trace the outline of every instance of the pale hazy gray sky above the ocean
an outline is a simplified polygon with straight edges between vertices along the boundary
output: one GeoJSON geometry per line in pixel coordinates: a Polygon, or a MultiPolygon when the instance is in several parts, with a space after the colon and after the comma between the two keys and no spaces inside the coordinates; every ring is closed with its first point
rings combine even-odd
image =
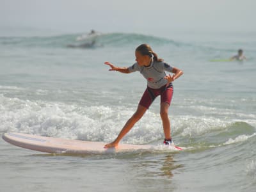
{"type": "Polygon", "coordinates": [[[255,0],[0,0],[0,26],[66,32],[255,32],[255,12],[255,0]]]}

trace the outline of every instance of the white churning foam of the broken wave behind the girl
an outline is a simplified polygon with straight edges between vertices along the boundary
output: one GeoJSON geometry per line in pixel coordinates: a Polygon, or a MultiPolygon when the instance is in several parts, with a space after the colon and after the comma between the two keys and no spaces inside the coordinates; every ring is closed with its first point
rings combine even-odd
{"type": "MultiPolygon", "coordinates": [[[[26,132],[90,141],[112,141],[134,109],[124,106],[81,106],[63,102],[31,101],[0,97],[0,132],[26,132]]],[[[172,134],[193,138],[207,132],[226,129],[232,122],[214,117],[172,116],[172,134]]],[[[252,135],[254,136],[254,134],[252,135]]],[[[247,140],[241,135],[224,145],[247,140]]],[[[147,111],[122,140],[125,143],[150,143],[163,139],[163,127],[158,113],[147,111]]]]}

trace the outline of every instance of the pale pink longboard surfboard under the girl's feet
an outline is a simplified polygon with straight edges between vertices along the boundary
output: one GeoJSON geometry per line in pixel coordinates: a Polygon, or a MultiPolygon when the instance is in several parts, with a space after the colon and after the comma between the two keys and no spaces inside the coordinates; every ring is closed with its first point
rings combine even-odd
{"type": "MultiPolygon", "coordinates": [[[[106,143],[103,142],[68,140],[64,138],[37,136],[18,132],[4,133],[2,138],[6,142],[18,147],[57,154],[102,154],[109,152],[126,152],[132,150],[156,150],[157,148],[154,145],[132,144],[119,144],[116,148],[104,148],[106,143]]],[[[170,150],[182,150],[182,148],[173,145],[170,146],[170,150]]]]}

